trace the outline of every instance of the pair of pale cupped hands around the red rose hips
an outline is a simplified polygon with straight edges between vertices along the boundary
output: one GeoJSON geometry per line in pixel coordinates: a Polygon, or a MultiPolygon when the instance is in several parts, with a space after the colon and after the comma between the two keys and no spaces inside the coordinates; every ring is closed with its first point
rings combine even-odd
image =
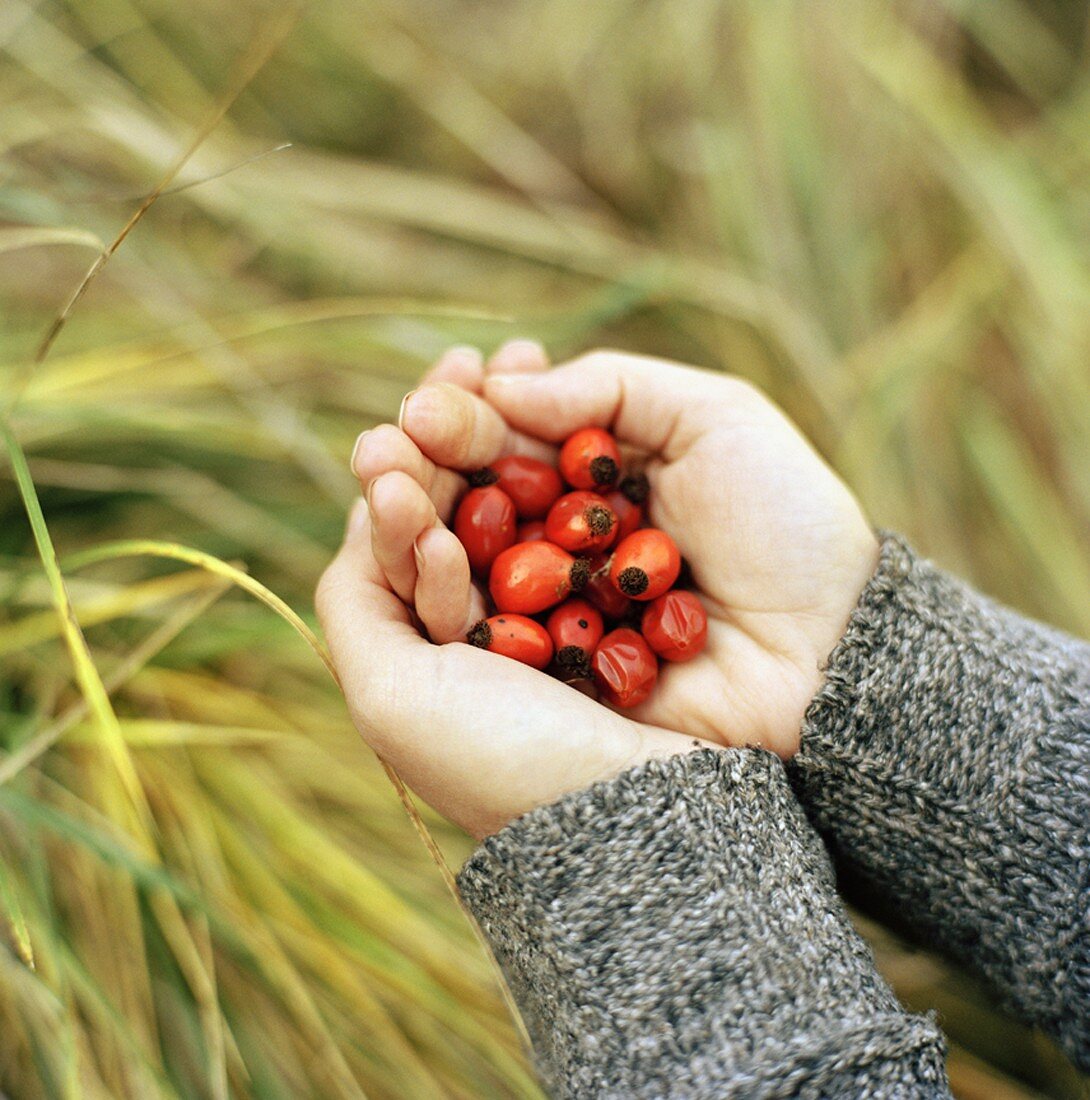
{"type": "Polygon", "coordinates": [[[352,469],[365,496],[317,593],[352,718],[477,838],[652,757],[758,745],[790,758],[878,559],[851,493],[767,397],[624,352],[551,367],[530,341],[487,362],[451,349],[396,427],[360,438],[352,469]],[[646,455],[650,521],[708,612],[705,652],[664,663],[630,711],[466,645],[485,602],[445,526],[460,471],[510,452],[550,460],[588,425],[646,455]]]}

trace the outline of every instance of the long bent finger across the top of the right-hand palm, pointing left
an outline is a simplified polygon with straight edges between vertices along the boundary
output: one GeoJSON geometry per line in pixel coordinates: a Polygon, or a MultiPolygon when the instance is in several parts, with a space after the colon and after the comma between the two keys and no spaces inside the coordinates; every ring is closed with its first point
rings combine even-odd
{"type": "Polygon", "coordinates": [[[593,352],[543,374],[491,374],[484,397],[513,429],[559,441],[595,425],[669,460],[714,422],[734,387],[744,384],[667,360],[593,352]]]}

